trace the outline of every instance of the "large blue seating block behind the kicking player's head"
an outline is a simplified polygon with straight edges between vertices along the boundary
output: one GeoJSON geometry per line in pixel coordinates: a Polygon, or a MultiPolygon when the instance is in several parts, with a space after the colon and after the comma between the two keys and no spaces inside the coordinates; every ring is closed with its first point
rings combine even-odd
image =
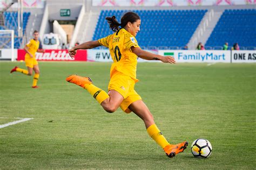
{"type": "MultiPolygon", "coordinates": [[[[136,10],[142,19],[136,39],[139,46],[166,49],[185,46],[207,10],[136,10]]],[[[105,18],[116,16],[120,22],[125,10],[103,10],[100,12],[93,40],[113,33],[105,18]]]]}

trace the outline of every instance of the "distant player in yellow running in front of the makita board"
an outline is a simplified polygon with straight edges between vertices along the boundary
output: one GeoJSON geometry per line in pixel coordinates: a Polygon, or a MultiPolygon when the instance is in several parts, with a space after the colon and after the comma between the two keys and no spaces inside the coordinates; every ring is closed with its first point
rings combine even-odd
{"type": "Polygon", "coordinates": [[[24,50],[26,52],[25,55],[25,63],[26,63],[26,67],[28,67],[28,70],[26,69],[22,69],[22,68],[18,68],[17,66],[14,67],[11,70],[12,72],[21,72],[25,75],[32,75],[32,71],[34,70],[35,75],[33,77],[33,84],[32,84],[32,88],[38,88],[37,86],[37,81],[39,79],[39,66],[38,66],[38,62],[36,60],[36,52],[38,53],[43,53],[44,49],[38,49],[39,48],[39,32],[38,31],[34,31],[33,32],[33,39],[31,39],[28,44],[26,44],[26,46],[24,47],[24,50]]]}

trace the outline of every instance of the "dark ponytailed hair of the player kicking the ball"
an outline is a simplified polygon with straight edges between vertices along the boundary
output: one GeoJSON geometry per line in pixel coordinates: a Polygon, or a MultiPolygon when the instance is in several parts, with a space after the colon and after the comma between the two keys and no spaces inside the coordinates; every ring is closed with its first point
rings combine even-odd
{"type": "Polygon", "coordinates": [[[106,17],[106,20],[107,20],[107,23],[109,23],[110,29],[113,30],[114,32],[120,29],[119,26],[123,28],[128,22],[134,23],[138,19],[140,19],[140,17],[138,16],[137,13],[134,13],[134,12],[126,12],[121,18],[121,23],[118,23],[116,16],[106,17]]]}

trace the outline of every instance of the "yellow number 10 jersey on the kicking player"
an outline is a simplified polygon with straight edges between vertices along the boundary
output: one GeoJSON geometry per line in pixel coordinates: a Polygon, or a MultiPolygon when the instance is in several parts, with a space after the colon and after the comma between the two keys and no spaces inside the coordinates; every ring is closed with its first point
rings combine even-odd
{"type": "Polygon", "coordinates": [[[118,71],[129,75],[135,82],[138,56],[132,53],[131,47],[139,47],[138,42],[131,33],[125,29],[120,29],[113,34],[98,40],[99,44],[108,47],[113,60],[110,77],[118,71]]]}

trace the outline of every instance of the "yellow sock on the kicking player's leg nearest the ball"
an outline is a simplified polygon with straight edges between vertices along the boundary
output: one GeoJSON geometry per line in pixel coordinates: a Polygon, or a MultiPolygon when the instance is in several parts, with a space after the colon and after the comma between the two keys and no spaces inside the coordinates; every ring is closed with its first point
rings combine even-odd
{"type": "Polygon", "coordinates": [[[170,145],[168,141],[165,139],[164,135],[160,132],[160,130],[157,128],[156,124],[152,124],[147,128],[147,133],[149,133],[149,136],[156,141],[158,145],[160,145],[162,148],[165,148],[165,146],[170,145]]]}

